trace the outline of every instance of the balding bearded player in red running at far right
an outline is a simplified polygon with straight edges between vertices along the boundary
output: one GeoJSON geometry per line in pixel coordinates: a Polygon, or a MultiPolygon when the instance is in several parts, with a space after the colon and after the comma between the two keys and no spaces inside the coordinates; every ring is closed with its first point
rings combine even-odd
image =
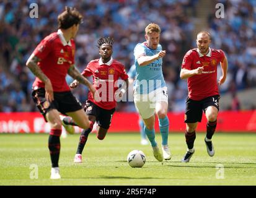
{"type": "Polygon", "coordinates": [[[188,162],[195,153],[195,130],[198,122],[201,122],[203,111],[208,121],[205,137],[206,150],[211,157],[214,155],[211,138],[217,126],[219,111],[218,84],[222,85],[226,80],[227,58],[221,49],[211,49],[210,43],[210,33],[199,32],[196,40],[197,48],[188,51],[182,62],[180,78],[188,81],[185,111],[185,138],[188,150],[182,162],[188,162]],[[217,84],[217,66],[219,63],[223,74],[217,84]]]}

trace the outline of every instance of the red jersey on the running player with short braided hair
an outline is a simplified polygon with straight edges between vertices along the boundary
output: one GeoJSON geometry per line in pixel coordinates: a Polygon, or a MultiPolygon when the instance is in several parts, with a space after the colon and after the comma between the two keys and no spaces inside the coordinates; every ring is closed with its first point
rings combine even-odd
{"type": "Polygon", "coordinates": [[[128,79],[125,66],[113,58],[106,63],[103,63],[101,59],[95,59],[87,64],[82,75],[86,77],[92,75],[94,87],[99,91],[101,98],[100,101],[95,101],[92,93],[89,92],[88,100],[105,110],[115,108],[117,101],[115,101],[114,94],[118,90],[115,83],[119,78],[122,80],[128,79]]]}

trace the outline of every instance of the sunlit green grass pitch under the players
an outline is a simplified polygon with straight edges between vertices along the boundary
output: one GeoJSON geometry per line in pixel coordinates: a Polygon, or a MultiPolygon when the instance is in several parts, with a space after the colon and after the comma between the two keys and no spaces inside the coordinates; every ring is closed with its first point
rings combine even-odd
{"type": "MultiPolygon", "coordinates": [[[[160,134],[156,139],[161,144],[160,134]]],[[[172,159],[162,164],[149,145],[139,144],[137,133],[107,134],[104,140],[90,134],[84,162],[74,164],[79,135],[69,135],[61,138],[62,178],[52,181],[47,134],[0,134],[0,185],[256,185],[256,134],[215,134],[214,157],[208,156],[203,139],[204,134],[196,134],[195,154],[181,163],[185,137],[170,133],[172,159]],[[146,154],[143,168],[126,162],[134,149],[146,154]]]]}

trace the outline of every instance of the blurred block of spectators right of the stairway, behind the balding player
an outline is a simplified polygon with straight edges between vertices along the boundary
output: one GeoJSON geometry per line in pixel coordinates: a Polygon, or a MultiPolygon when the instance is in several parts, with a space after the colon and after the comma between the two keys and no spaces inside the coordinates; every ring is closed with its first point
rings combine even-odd
{"type": "MultiPolygon", "coordinates": [[[[216,3],[219,1],[215,1],[216,3]]],[[[222,92],[255,87],[256,66],[256,2],[221,1],[225,7],[224,19],[215,14],[209,17],[213,46],[224,49],[229,60],[229,79],[222,92]],[[227,87],[226,87],[227,86],[227,87]]]]}

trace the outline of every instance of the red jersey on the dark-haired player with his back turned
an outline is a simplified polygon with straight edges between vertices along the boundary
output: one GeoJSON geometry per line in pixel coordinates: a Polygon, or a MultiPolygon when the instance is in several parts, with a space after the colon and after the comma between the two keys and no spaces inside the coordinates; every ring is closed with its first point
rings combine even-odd
{"type": "MultiPolygon", "coordinates": [[[[54,92],[70,90],[66,75],[71,64],[74,64],[75,48],[74,40],[67,43],[62,32],[58,30],[45,37],[33,51],[33,54],[41,59],[38,66],[51,80],[54,92]]],[[[33,87],[36,86],[45,87],[45,84],[36,77],[33,87]]]]}

